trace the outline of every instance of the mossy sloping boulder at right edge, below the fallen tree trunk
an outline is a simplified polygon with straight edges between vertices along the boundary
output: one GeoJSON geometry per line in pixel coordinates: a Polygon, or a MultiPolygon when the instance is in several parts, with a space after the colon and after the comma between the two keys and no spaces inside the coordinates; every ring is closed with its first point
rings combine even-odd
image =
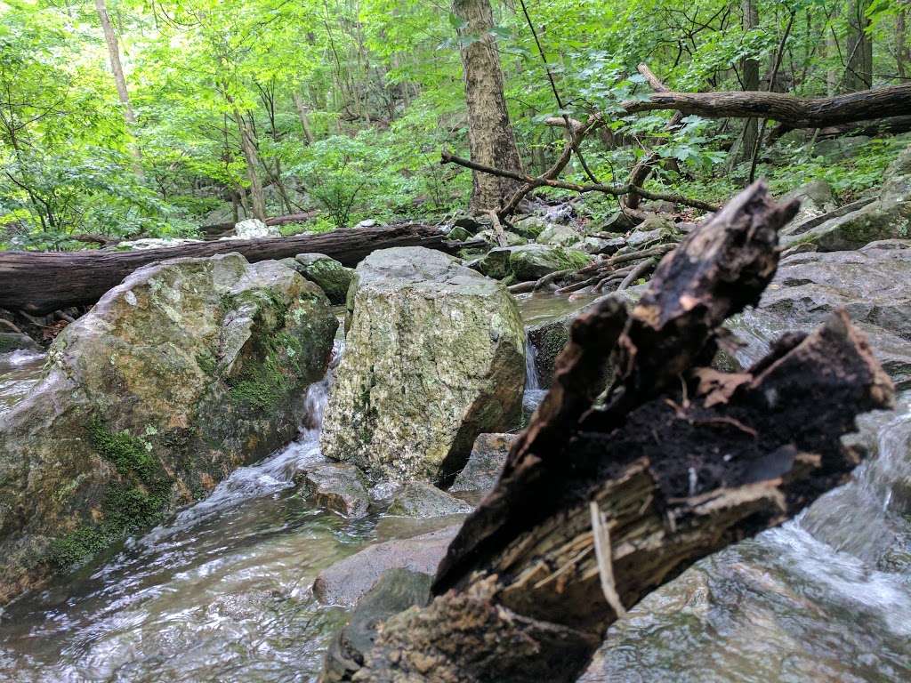
{"type": "Polygon", "coordinates": [[[784,235],[782,244],[812,243],[821,251],[855,250],[875,240],[911,238],[911,147],[885,170],[875,201],[834,215],[799,234],[784,235]]]}

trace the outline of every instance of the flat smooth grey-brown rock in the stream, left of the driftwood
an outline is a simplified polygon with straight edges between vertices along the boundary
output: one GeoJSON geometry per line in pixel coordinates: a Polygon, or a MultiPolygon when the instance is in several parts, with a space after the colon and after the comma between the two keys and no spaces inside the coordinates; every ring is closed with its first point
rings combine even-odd
{"type": "Polygon", "coordinates": [[[313,596],[323,605],[352,607],[389,569],[402,568],[432,576],[460,526],[370,545],[323,569],[313,582],[313,596]]]}

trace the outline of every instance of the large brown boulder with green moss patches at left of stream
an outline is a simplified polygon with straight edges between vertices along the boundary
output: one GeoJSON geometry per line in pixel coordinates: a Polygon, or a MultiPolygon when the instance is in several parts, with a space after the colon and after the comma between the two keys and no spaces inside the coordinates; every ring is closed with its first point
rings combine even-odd
{"type": "Polygon", "coordinates": [[[0,603],[290,441],[337,324],[315,285],[239,254],[108,291],[0,416],[0,603]]]}

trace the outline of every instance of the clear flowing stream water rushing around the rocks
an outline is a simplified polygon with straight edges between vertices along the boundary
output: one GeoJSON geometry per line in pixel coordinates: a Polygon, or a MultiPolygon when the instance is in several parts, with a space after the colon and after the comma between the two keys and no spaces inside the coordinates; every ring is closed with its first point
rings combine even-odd
{"type": "MultiPolygon", "coordinates": [[[[520,306],[530,324],[582,303],[526,297],[520,306]]],[[[740,360],[762,346],[748,345],[740,360]]],[[[0,413],[42,362],[0,357],[0,413]]],[[[543,390],[530,369],[534,403],[543,390]]],[[[331,382],[332,372],[308,390],[294,443],[235,471],[168,524],[0,610],[0,681],[315,680],[346,618],[313,599],[315,576],[365,545],[419,533],[388,517],[378,526],[381,514],[322,512],[295,491],[295,470],[322,458],[331,382]]],[[[902,516],[911,392],[897,403],[861,421],[856,440],[875,457],[853,482],[647,596],[611,627],[583,680],[911,680],[911,520],[902,516]]]]}

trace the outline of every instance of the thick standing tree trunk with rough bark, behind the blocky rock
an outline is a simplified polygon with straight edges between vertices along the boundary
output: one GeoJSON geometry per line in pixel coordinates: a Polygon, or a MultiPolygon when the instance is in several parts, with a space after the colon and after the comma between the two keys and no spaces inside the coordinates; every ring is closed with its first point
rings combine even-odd
{"type": "MultiPolygon", "coordinates": [[[[522,161],[503,95],[503,70],[496,39],[490,33],[494,27],[490,0],[454,0],[453,14],[462,22],[457,32],[459,38],[471,41],[460,49],[471,159],[486,166],[521,171],[522,161]]],[[[475,172],[469,209],[476,214],[495,210],[506,204],[517,187],[513,179],[475,172]]]]}

